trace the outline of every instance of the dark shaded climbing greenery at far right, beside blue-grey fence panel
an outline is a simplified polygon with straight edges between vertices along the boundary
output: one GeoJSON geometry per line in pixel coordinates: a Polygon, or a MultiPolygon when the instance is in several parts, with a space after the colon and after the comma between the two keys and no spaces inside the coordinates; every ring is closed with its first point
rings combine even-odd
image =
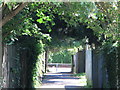
{"type": "Polygon", "coordinates": [[[108,85],[110,88],[120,87],[120,46],[117,43],[108,44],[104,48],[106,67],[108,73],[108,85]]]}

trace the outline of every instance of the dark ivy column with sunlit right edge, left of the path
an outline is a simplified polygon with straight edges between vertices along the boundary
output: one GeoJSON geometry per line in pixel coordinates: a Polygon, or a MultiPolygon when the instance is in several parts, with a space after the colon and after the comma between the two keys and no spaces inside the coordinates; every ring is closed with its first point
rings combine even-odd
{"type": "Polygon", "coordinates": [[[34,87],[34,80],[43,74],[41,65],[44,56],[40,57],[40,54],[44,52],[44,45],[41,40],[31,36],[21,36],[16,43],[20,46],[21,88],[34,87]]]}

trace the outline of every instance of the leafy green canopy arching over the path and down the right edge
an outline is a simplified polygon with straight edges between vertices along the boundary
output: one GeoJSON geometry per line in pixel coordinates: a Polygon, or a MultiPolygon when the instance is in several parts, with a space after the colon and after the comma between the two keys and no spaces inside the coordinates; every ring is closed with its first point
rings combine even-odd
{"type": "MultiPolygon", "coordinates": [[[[6,7],[9,10],[17,4],[8,3],[6,7]]],[[[3,13],[6,14],[5,11],[3,13]]],[[[28,3],[27,7],[3,26],[3,40],[12,44],[19,42],[20,36],[32,36],[43,43],[31,43],[25,38],[29,44],[26,44],[25,41],[22,43],[23,46],[27,45],[28,48],[32,48],[36,45],[40,45],[40,47],[45,45],[44,49],[49,48],[50,50],[56,47],[57,49],[62,46],[66,47],[68,44],[76,46],[74,45],[76,40],[81,41],[78,45],[84,46],[85,40],[88,38],[89,44],[94,44],[95,48],[105,51],[110,87],[116,87],[120,82],[118,68],[120,62],[119,14],[119,2],[28,3]],[[111,58],[111,55],[114,58],[111,58]],[[114,67],[115,65],[117,68],[114,67]],[[110,70],[116,70],[116,72],[112,73],[110,70]],[[117,84],[111,81],[113,76],[115,77],[113,80],[117,84]],[[116,77],[118,81],[116,81],[116,77]]],[[[41,51],[40,49],[39,53],[41,51]]],[[[36,53],[38,54],[38,52],[36,53]]],[[[36,56],[35,59],[37,59],[36,56]]]]}

